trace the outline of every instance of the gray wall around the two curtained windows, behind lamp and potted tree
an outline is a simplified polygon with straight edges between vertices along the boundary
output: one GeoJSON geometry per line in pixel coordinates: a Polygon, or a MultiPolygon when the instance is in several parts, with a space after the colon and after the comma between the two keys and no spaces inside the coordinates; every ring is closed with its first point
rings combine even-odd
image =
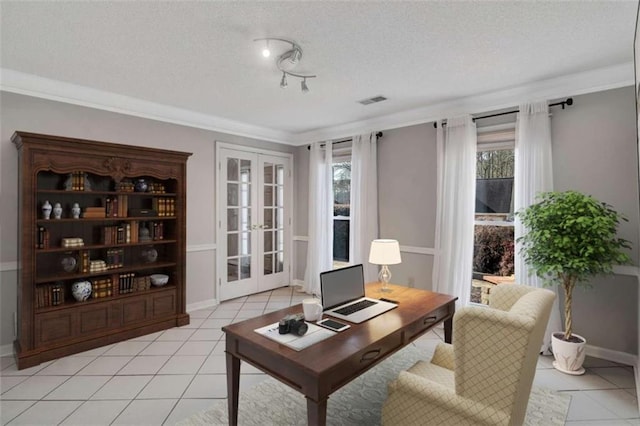
{"type": "MultiPolygon", "coordinates": [[[[557,190],[576,189],[613,205],[629,219],[620,236],[631,241],[639,264],[638,153],[633,87],[575,96],[574,105],[552,108],[554,180],[557,190]]],[[[444,117],[443,117],[444,118],[444,117]]],[[[513,122],[515,116],[482,120],[479,126],[513,122]]],[[[432,123],[385,130],[378,144],[380,236],[405,250],[392,267],[393,281],[431,289],[436,208],[436,136],[432,123]],[[416,250],[415,248],[422,249],[416,250]]],[[[296,152],[304,165],[306,148],[296,152]]],[[[302,194],[306,170],[296,170],[302,194]]],[[[307,203],[297,203],[296,235],[306,236],[307,203]],[[303,220],[304,219],[304,222],[303,220]]],[[[298,242],[306,248],[306,243],[298,242]]],[[[304,275],[304,259],[296,277],[304,275]]],[[[633,271],[633,270],[632,270],[633,271]]],[[[631,272],[633,273],[633,272],[631,272]]],[[[638,353],[638,277],[598,277],[588,291],[574,293],[574,330],[593,346],[638,353]]]]}

